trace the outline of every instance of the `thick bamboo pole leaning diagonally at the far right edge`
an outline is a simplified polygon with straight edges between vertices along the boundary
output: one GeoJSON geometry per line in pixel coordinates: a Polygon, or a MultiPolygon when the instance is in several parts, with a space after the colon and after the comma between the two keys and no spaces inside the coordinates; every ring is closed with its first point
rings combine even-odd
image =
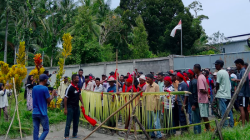
{"type": "Polygon", "coordinates": [[[227,106],[227,109],[226,109],[226,111],[225,111],[225,113],[224,113],[224,115],[223,115],[223,117],[222,117],[222,119],[220,121],[219,128],[216,128],[213,135],[212,135],[212,138],[211,138],[212,140],[215,138],[215,134],[217,133],[218,129],[221,129],[223,127],[223,124],[225,123],[226,118],[227,118],[229,112],[231,111],[231,109],[232,109],[232,107],[234,105],[234,102],[237,99],[238,94],[240,93],[240,90],[241,90],[243,84],[245,83],[245,81],[247,79],[247,76],[248,76],[249,72],[250,72],[250,67],[248,66],[245,73],[244,73],[244,75],[243,75],[243,77],[242,77],[242,79],[240,80],[240,83],[239,83],[239,85],[238,85],[232,99],[230,100],[230,102],[229,102],[229,104],[227,106]]]}

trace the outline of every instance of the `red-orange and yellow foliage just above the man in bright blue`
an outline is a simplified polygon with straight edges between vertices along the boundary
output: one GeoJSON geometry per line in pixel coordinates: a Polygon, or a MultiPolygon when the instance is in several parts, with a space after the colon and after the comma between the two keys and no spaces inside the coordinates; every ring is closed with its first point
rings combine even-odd
{"type": "Polygon", "coordinates": [[[39,80],[39,75],[43,74],[45,69],[42,66],[42,56],[41,54],[36,54],[35,57],[33,58],[34,63],[35,63],[35,68],[30,71],[29,75],[33,75],[34,79],[38,83],[39,80]]]}

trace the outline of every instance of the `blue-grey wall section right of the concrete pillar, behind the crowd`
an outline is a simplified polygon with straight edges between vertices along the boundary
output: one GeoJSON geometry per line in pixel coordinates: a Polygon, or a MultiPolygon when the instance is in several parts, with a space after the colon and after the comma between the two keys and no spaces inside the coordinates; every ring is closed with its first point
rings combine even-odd
{"type": "Polygon", "coordinates": [[[200,64],[202,68],[210,68],[215,70],[214,62],[218,59],[224,61],[224,68],[234,67],[234,61],[242,58],[245,62],[250,62],[250,52],[225,53],[216,55],[200,55],[200,56],[175,56],[174,69],[187,70],[193,68],[194,64],[200,64]]]}

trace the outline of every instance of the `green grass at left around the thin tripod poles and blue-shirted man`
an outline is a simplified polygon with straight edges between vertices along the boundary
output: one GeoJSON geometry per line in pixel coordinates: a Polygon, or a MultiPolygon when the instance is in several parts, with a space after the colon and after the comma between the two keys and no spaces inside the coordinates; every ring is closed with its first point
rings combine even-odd
{"type": "MultiPolygon", "coordinates": [[[[12,97],[14,97],[14,96],[12,95],[12,97]]],[[[24,129],[22,129],[23,136],[24,135],[32,135],[32,133],[33,133],[32,112],[27,111],[26,100],[24,100],[24,92],[22,92],[18,96],[18,101],[19,101],[18,110],[19,110],[19,115],[20,115],[21,126],[22,126],[22,128],[24,128],[24,129]]],[[[11,104],[11,113],[9,116],[10,120],[5,121],[4,116],[3,116],[3,112],[2,112],[2,116],[0,119],[0,126],[1,126],[0,127],[0,136],[6,135],[6,133],[7,133],[11,119],[14,115],[15,99],[12,99],[12,101],[9,102],[9,104],[11,104]]],[[[48,110],[48,117],[49,117],[49,124],[50,125],[66,121],[66,116],[63,114],[63,112],[61,112],[60,109],[53,109],[53,110],[49,109],[48,110]]],[[[9,131],[8,136],[10,138],[20,137],[19,122],[17,119],[17,114],[15,115],[15,119],[13,121],[13,124],[11,126],[11,129],[9,131]]]]}

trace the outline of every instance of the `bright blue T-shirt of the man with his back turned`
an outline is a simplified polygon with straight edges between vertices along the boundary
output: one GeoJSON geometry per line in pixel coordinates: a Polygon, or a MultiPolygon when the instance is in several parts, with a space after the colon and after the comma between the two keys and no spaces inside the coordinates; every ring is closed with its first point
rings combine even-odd
{"type": "Polygon", "coordinates": [[[49,90],[46,86],[37,85],[32,90],[33,113],[47,115],[47,99],[50,98],[49,90]]]}

